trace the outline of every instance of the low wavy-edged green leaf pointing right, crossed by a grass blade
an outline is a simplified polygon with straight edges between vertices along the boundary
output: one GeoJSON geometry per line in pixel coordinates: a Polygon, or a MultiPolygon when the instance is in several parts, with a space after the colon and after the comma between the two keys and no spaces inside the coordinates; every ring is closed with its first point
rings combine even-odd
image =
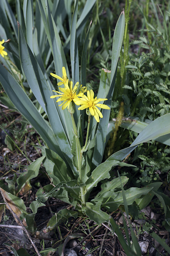
{"type": "MultiPolygon", "coordinates": [[[[126,190],[125,197],[126,197],[127,205],[132,204],[136,198],[140,198],[141,196],[147,194],[149,191],[152,190],[152,188],[153,187],[149,187],[149,188],[132,187],[126,190]]],[[[111,198],[109,200],[107,200],[108,193],[106,192],[103,194],[103,207],[106,207],[107,209],[109,209],[109,211],[114,212],[115,210],[117,210],[120,204],[124,204],[123,195],[122,195],[122,191],[114,192],[112,190],[110,191],[110,194],[111,194],[111,198]],[[104,203],[104,201],[106,203],[104,203]]]]}

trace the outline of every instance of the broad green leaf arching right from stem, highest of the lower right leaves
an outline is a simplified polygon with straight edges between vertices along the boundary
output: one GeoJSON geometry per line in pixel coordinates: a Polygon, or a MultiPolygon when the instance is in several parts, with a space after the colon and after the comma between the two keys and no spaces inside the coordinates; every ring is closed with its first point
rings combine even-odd
{"type": "Polygon", "coordinates": [[[101,180],[104,180],[105,178],[110,178],[109,171],[112,169],[114,166],[133,166],[126,164],[124,162],[119,162],[119,161],[108,161],[104,162],[100,165],[98,165],[94,171],[92,171],[92,174],[86,181],[86,190],[91,190],[92,187],[96,187],[98,182],[101,180]],[[107,164],[109,163],[109,164],[107,164]]]}

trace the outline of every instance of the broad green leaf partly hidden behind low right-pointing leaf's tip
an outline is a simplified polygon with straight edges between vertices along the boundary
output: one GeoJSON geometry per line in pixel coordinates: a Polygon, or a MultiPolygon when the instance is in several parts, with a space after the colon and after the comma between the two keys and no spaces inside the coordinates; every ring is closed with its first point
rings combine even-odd
{"type": "MultiPolygon", "coordinates": [[[[153,182],[151,184],[148,184],[145,187],[153,187],[154,191],[157,191],[158,188],[162,185],[162,182],[153,182]]],[[[148,194],[141,196],[140,198],[136,198],[135,202],[137,203],[137,206],[139,207],[140,210],[145,208],[152,200],[154,196],[154,192],[151,190],[148,192],[148,194]]]]}

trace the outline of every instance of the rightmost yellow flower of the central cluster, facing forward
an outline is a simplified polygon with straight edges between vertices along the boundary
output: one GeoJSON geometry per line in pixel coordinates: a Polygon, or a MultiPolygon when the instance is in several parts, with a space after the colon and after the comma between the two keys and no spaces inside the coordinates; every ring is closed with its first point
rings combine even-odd
{"type": "Polygon", "coordinates": [[[103,117],[102,113],[97,107],[110,109],[107,105],[98,103],[99,101],[105,101],[106,98],[94,98],[94,91],[87,91],[87,96],[83,95],[78,100],[75,100],[76,105],[81,105],[78,110],[84,110],[85,108],[89,108],[90,114],[94,116],[97,122],[99,122],[99,117],[103,117]]]}

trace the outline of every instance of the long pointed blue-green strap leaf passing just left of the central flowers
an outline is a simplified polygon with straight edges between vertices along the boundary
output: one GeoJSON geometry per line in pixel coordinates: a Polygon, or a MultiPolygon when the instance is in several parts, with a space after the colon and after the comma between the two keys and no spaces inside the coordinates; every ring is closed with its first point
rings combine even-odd
{"type": "Polygon", "coordinates": [[[51,127],[57,139],[58,145],[60,146],[61,151],[65,155],[65,158],[68,161],[69,165],[72,167],[73,171],[75,171],[75,168],[72,163],[71,148],[69,145],[67,135],[62,126],[55,101],[50,98],[50,96],[52,95],[52,92],[50,91],[49,85],[46,82],[46,79],[40,69],[40,66],[36,62],[36,59],[33,53],[31,52],[31,50],[29,49],[26,43],[21,26],[19,26],[19,24],[18,24],[18,31],[19,31],[19,55],[22,63],[22,68],[24,70],[24,74],[26,75],[28,84],[31,87],[40,105],[47,113],[50,120],[51,127]]]}

